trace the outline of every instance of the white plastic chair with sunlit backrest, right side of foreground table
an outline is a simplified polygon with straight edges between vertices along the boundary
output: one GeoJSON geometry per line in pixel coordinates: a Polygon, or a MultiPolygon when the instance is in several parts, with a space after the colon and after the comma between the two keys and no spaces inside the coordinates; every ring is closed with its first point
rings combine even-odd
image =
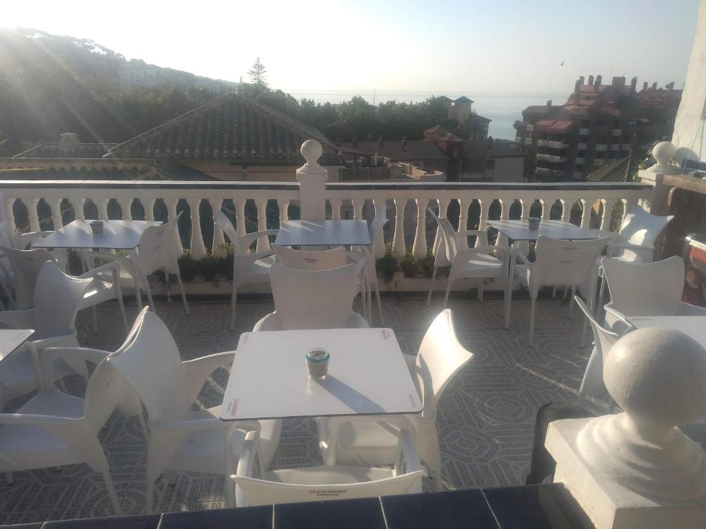
{"type": "Polygon", "coordinates": [[[453,312],[439,313],[424,334],[416,358],[405,355],[422,401],[421,414],[318,419],[319,447],[325,463],[388,465],[395,462],[397,432],[411,428],[419,444],[421,461],[442,489],[441,451],[436,430],[438,401],[454,375],[473,358],[456,338],[453,312]]]}

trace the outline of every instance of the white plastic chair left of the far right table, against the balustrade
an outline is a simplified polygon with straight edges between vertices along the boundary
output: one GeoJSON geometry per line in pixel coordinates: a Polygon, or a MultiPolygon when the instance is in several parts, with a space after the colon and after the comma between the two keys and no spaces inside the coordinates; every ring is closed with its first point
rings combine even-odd
{"type": "MultiPolygon", "coordinates": [[[[480,230],[464,230],[455,231],[450,221],[445,217],[436,217],[433,209],[427,208],[431,217],[436,220],[436,223],[441,230],[443,238],[443,249],[439,245],[439,249],[434,259],[434,271],[431,274],[431,284],[429,286],[429,296],[426,298],[426,306],[431,303],[431,293],[433,291],[434,281],[436,280],[436,272],[438,267],[443,262],[443,258],[448,259],[451,263],[451,269],[446,280],[446,292],[443,298],[443,306],[448,303],[448,295],[451,291],[451,284],[455,279],[463,277],[478,279],[478,300],[483,300],[483,280],[484,279],[499,279],[503,283],[503,292],[505,293],[505,305],[508,301],[508,292],[505,288],[508,281],[508,259],[510,249],[504,246],[493,246],[488,244],[488,234],[480,230]],[[474,248],[459,248],[459,241],[465,240],[468,236],[477,237],[477,245],[474,248]],[[489,252],[493,250],[498,257],[491,255],[489,252]]],[[[505,328],[508,327],[505,322],[505,328]]]]}

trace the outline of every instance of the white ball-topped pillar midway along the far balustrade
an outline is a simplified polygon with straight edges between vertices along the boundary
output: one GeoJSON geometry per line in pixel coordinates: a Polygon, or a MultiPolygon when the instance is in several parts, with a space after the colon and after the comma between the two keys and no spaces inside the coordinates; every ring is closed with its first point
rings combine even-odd
{"type": "Polygon", "coordinates": [[[306,164],[297,169],[299,181],[299,208],[302,220],[323,220],[326,218],[326,182],[328,171],[318,164],[323,154],[321,143],[306,140],[301,144],[301,156],[306,164]]]}

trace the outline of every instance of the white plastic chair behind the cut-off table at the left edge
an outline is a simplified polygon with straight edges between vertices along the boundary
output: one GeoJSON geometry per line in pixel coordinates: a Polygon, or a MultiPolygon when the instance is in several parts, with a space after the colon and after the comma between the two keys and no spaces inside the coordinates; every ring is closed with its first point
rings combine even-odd
{"type": "MultiPolygon", "coordinates": [[[[0,395],[5,402],[41,387],[41,351],[55,346],[78,346],[76,314],[92,281],[67,276],[54,261],[44,262],[37,277],[32,308],[0,312],[1,324],[35,330],[29,346],[16,351],[0,365],[0,395]]],[[[87,374],[85,363],[69,360],[68,365],[60,364],[54,370],[56,379],[77,373],[87,374]]]]}

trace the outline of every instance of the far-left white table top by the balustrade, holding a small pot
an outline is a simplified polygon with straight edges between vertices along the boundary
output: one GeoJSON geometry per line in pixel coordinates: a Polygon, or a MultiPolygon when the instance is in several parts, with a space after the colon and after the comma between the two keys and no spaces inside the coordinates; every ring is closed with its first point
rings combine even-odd
{"type": "Polygon", "coordinates": [[[32,247],[132,250],[140,244],[145,228],[162,224],[159,221],[104,220],[103,233],[93,235],[89,223],[90,220],[75,220],[33,243],[32,247]]]}

